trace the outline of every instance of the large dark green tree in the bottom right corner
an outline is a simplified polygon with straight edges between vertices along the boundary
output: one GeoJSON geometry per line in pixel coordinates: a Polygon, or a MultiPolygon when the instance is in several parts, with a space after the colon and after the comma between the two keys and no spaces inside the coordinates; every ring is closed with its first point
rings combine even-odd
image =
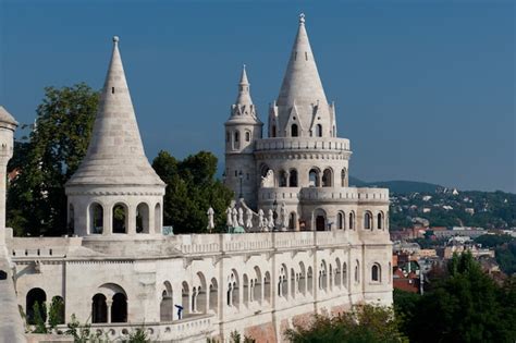
{"type": "Polygon", "coordinates": [[[514,342],[514,290],[499,286],[470,253],[455,255],[447,275],[417,303],[414,342],[514,342]]]}

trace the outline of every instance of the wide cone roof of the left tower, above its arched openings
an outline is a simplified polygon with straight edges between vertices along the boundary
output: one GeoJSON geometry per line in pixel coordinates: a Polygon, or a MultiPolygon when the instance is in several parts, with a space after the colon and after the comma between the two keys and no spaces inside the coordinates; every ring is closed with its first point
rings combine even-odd
{"type": "Polygon", "coordinates": [[[73,185],[164,185],[145,156],[116,36],[86,157],[66,184],[73,185]]]}

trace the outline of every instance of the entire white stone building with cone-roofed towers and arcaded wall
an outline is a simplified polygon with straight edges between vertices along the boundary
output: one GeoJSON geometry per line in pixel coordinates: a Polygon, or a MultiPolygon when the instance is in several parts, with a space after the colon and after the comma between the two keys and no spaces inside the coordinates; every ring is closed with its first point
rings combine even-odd
{"type": "MultiPolygon", "coordinates": [[[[225,123],[225,182],[236,207],[253,213],[245,234],[162,235],[165,185],[145,156],[113,40],[93,138],[66,184],[75,235],[17,238],[0,228],[25,313],[60,297],[66,319],[74,314],[113,340],[145,326],[159,341],[206,342],[237,330],[275,342],[315,313],[392,303],[389,191],[348,187],[349,140],[336,136],[304,16],[269,137],[245,70],[225,123]],[[271,210],[268,228],[258,224],[260,209],[271,210]]],[[[7,127],[0,137],[11,147],[15,124],[7,127]]]]}

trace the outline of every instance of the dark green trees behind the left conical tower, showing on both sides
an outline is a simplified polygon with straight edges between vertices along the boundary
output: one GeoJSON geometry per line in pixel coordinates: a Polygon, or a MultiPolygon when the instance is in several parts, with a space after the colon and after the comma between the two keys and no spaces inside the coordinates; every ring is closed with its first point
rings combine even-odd
{"type": "MultiPolygon", "coordinates": [[[[86,84],[45,89],[34,125],[24,125],[27,136],[15,142],[8,166],[7,225],[16,236],[70,234],[66,224],[64,184],[86,155],[97,113],[99,93],[86,84]]],[[[200,151],[183,161],[160,151],[152,167],[167,183],[163,224],[174,232],[206,230],[206,211],[216,211],[216,230],[232,192],[216,179],[217,157],[200,151]]]]}

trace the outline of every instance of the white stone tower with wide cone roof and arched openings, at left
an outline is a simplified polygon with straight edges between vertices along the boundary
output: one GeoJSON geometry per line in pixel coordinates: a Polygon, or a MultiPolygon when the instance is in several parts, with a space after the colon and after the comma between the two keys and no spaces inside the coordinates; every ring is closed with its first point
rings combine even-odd
{"type": "Polygon", "coordinates": [[[164,183],[145,156],[119,38],[86,157],[65,185],[69,225],[79,236],[161,234],[164,183]]]}

